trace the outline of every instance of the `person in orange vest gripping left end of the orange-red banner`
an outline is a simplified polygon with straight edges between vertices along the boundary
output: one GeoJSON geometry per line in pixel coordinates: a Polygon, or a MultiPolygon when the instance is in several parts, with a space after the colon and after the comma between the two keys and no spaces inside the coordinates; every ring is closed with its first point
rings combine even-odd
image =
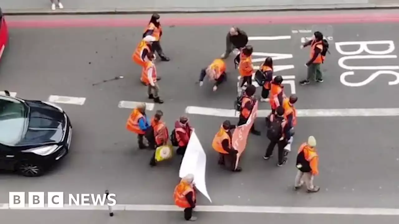
{"type": "Polygon", "coordinates": [[[238,151],[233,148],[231,142],[231,138],[233,138],[231,129],[234,128],[236,128],[236,126],[231,125],[229,120],[223,122],[219,132],[217,132],[215,138],[213,138],[212,147],[219,153],[219,165],[225,165],[225,157],[228,156],[228,160],[231,162],[231,165],[229,166],[231,171],[240,172],[242,171],[241,167],[235,167],[238,151]]]}

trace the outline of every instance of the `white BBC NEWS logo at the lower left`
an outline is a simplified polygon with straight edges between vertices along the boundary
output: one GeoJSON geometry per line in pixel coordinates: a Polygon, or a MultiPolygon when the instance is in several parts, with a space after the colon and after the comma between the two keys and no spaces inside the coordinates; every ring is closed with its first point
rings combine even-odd
{"type": "MultiPolygon", "coordinates": [[[[45,200],[44,192],[28,192],[28,198],[25,198],[25,195],[25,192],[10,192],[8,206],[25,208],[28,204],[28,208],[63,208],[65,205],[63,192],[47,192],[47,200],[45,200]]],[[[67,198],[69,206],[115,206],[117,204],[115,194],[67,194],[67,198]]]]}

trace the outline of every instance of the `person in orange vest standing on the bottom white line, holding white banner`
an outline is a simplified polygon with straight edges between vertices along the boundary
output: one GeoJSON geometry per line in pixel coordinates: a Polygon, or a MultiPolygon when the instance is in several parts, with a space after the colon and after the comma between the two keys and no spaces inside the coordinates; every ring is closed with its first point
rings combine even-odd
{"type": "Polygon", "coordinates": [[[177,206],[184,208],[184,219],[195,221],[197,217],[193,216],[193,209],[196,207],[196,191],[194,189],[194,175],[188,174],[175,187],[173,199],[177,206]]]}

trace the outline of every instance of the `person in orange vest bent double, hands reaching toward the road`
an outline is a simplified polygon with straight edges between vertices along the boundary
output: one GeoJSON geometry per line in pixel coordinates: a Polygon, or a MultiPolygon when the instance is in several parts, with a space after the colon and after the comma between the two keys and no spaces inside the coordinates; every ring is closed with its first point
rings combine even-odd
{"type": "Polygon", "coordinates": [[[217,90],[217,86],[219,86],[223,81],[226,80],[226,64],[222,59],[215,59],[211,65],[207,68],[201,70],[201,75],[199,76],[199,86],[203,85],[203,79],[208,75],[210,80],[215,81],[213,85],[213,91],[217,90]]]}

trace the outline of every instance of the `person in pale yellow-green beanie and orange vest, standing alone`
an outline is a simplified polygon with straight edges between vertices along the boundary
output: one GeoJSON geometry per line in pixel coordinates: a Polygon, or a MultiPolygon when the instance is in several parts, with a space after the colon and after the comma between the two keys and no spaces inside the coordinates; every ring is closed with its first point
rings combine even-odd
{"type": "Polygon", "coordinates": [[[320,191],[320,187],[313,185],[314,176],[319,174],[319,156],[316,151],[316,139],[309,136],[308,142],[302,143],[296,157],[298,172],[295,177],[294,190],[299,190],[305,183],[308,193],[320,191]]]}

